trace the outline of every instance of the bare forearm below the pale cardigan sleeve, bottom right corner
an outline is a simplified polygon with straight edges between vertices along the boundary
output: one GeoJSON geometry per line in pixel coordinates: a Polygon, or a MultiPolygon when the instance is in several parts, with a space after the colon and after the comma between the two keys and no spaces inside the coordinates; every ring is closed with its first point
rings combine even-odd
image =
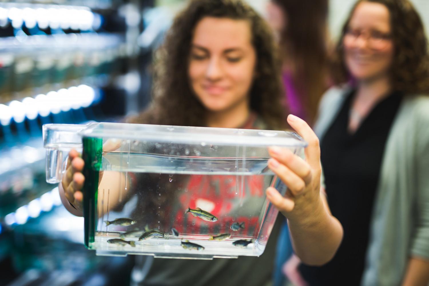
{"type": "Polygon", "coordinates": [[[429,261],[422,258],[411,257],[408,260],[402,286],[427,286],[429,285],[429,261]]]}

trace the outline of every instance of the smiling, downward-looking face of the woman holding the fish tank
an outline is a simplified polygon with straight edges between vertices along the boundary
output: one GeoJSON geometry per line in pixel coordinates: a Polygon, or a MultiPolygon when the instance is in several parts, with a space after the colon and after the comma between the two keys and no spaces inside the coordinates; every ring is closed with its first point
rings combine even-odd
{"type": "Polygon", "coordinates": [[[246,20],[205,17],[191,42],[190,85],[209,111],[248,104],[254,79],[256,51],[246,20]]]}

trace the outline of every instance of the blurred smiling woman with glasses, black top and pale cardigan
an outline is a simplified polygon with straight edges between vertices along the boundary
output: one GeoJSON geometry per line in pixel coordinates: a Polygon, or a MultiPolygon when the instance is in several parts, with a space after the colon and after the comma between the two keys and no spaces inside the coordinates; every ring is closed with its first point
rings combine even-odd
{"type": "Polygon", "coordinates": [[[408,0],[360,0],[344,24],[315,130],[334,258],[300,265],[309,285],[429,282],[429,55],[408,0]]]}

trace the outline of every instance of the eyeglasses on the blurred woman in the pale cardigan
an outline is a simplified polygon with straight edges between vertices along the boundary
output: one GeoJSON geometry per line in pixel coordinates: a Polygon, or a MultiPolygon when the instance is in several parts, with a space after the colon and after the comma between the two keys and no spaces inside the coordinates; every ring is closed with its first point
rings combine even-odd
{"type": "Polygon", "coordinates": [[[357,39],[360,36],[363,36],[363,39],[366,39],[366,43],[369,48],[374,50],[382,50],[387,47],[392,36],[390,33],[382,33],[377,30],[353,30],[347,29],[344,33],[344,45],[353,45],[356,43],[357,39]]]}

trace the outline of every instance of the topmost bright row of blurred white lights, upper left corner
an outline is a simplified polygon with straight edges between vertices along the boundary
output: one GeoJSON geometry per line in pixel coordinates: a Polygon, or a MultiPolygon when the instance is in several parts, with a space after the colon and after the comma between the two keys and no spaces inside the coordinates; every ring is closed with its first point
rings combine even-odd
{"type": "Polygon", "coordinates": [[[63,30],[98,30],[102,25],[100,14],[93,13],[86,7],[57,6],[52,8],[4,8],[0,7],[0,27],[6,27],[9,21],[12,27],[33,29],[36,24],[40,29],[61,28],[63,30]],[[76,9],[77,8],[77,9],[76,9]]]}

